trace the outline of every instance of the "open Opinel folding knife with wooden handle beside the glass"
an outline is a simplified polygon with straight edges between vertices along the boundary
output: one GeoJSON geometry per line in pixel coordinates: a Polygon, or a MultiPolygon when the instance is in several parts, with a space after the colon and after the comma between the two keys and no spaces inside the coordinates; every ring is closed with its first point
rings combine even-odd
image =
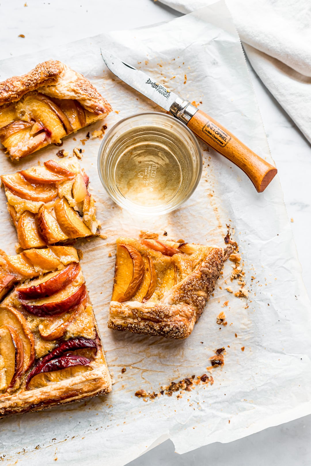
{"type": "Polygon", "coordinates": [[[194,134],[215,151],[240,167],[256,187],[263,192],[275,177],[276,167],[259,157],[214,118],[198,110],[188,100],[167,89],[152,76],[123,62],[104,48],[103,60],[110,71],[126,84],[181,120],[194,134]]]}

